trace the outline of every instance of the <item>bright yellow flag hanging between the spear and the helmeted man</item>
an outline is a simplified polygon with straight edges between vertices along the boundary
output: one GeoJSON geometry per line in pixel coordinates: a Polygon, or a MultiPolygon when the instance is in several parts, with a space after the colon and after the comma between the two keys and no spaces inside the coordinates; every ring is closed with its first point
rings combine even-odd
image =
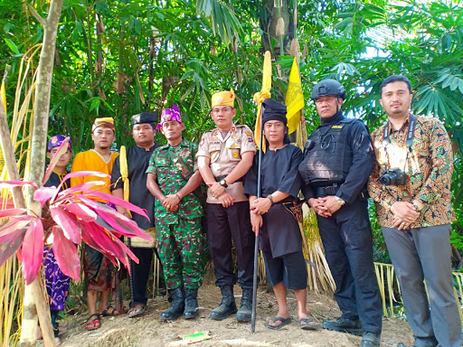
{"type": "Polygon", "coordinates": [[[286,92],[286,117],[288,118],[288,133],[291,134],[298,128],[300,110],[304,108],[304,94],[300,83],[298,61],[294,58],[291,72],[289,73],[288,91],[286,92]]]}

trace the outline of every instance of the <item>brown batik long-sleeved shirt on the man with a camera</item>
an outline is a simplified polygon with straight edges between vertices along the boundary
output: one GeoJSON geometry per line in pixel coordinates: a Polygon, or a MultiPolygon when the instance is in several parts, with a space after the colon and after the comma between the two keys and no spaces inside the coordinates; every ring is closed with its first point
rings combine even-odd
{"type": "Polygon", "coordinates": [[[417,117],[411,151],[405,145],[409,120],[399,130],[390,130],[390,144],[383,142],[384,127],[372,133],[376,160],[368,183],[380,225],[392,228],[392,204],[412,200],[422,202],[424,209],[411,228],[451,223],[455,220],[450,192],[453,154],[443,125],[436,118],[417,117]],[[404,185],[384,186],[380,183],[383,171],[392,168],[407,174],[404,185]]]}

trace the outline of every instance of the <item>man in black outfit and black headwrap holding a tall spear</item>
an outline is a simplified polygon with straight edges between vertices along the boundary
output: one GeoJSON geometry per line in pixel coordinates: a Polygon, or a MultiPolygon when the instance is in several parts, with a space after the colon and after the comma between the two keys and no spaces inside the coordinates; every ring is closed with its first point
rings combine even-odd
{"type": "Polygon", "coordinates": [[[286,106],[267,98],[262,124],[268,150],[262,154],[261,194],[257,198],[258,160],[246,174],[244,192],[250,195],[252,230],[260,235],[269,284],[273,286],[279,305],[278,314],[266,326],[279,330],[291,321],[288,312],[287,288],[294,290],[298,302],[298,325],[315,330],[317,325],[307,315],[307,267],[302,253],[302,237],[296,216],[289,210],[297,201],[301,186],[298,165],[301,150],[290,145],[286,106]]]}

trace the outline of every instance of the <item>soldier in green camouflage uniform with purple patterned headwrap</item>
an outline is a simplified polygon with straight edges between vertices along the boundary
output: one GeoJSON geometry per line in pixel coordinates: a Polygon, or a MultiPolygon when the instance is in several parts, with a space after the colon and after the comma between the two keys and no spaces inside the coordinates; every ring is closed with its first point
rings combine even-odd
{"type": "Polygon", "coordinates": [[[172,321],[180,314],[190,319],[199,315],[197,294],[203,284],[203,206],[194,194],[203,182],[196,165],[198,146],[182,137],[184,124],[175,105],[163,111],[157,128],[167,145],[151,156],[146,187],[156,196],[157,250],[173,299],[161,319],[172,321]]]}

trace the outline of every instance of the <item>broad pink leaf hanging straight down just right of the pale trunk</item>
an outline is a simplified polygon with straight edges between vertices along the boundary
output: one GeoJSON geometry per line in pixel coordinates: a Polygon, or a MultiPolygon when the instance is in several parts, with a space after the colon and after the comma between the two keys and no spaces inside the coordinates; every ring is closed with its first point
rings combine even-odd
{"type": "Polygon", "coordinates": [[[73,278],[76,282],[80,279],[80,258],[74,243],[63,236],[59,227],[52,228],[53,253],[58,266],[64,275],[73,278]]]}

